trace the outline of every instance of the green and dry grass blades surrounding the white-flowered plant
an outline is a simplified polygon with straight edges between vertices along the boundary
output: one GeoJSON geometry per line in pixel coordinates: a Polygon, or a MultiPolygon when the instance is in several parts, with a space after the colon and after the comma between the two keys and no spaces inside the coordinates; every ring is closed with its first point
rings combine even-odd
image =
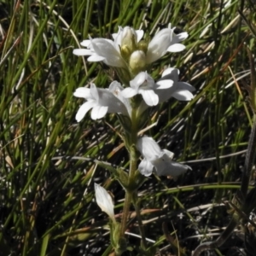
{"type": "MultiPolygon", "coordinates": [[[[163,223],[183,247],[180,253],[216,239],[230,219],[224,201],[239,188],[252,123],[245,44],[255,51],[255,38],[238,10],[254,22],[253,8],[253,1],[238,0],[2,0],[0,254],[111,252],[108,218],[96,206],[93,183],[113,193],[117,217],[124,191],[95,160],[127,167],[127,156],[113,115],[75,121],[83,101],[73,91],[90,81],[107,87],[114,73],[73,55],[73,48],[89,35],[110,38],[118,26],[142,28],[152,37],[169,22],[177,32],[189,32],[187,48],[158,61],[154,79],[167,65],[177,67],[180,79],[195,86],[195,99],[172,98],[152,109],[148,125],[156,125],[148,133],[193,171],[177,181],[152,176],[140,189],[148,247],[156,255],[173,252],[163,223]]],[[[132,214],[128,231],[130,244],[137,244],[132,214]]],[[[241,255],[243,247],[237,229],[205,255],[241,255]]]]}

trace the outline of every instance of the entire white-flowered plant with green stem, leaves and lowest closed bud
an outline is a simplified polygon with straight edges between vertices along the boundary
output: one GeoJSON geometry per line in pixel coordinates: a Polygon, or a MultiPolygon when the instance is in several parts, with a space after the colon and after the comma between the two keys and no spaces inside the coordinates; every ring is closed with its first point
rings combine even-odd
{"type": "MultiPolygon", "coordinates": [[[[168,26],[156,33],[150,41],[147,38],[143,39],[143,30],[119,26],[119,32],[112,35],[113,40],[89,38],[81,43],[84,49],[73,50],[75,55],[88,56],[88,61],[104,62],[113,68],[119,78],[118,81],[109,84],[108,88],[99,88],[91,83],[90,88],[78,88],[73,94],[85,100],[76,114],[78,122],[84,119],[89,111],[91,119],[102,119],[107,113],[118,114],[122,138],[130,155],[129,174],[120,168],[111,169],[114,177],[125,189],[121,223],[114,216],[111,195],[95,183],[96,203],[102,212],[108,214],[110,241],[117,255],[121,255],[127,249],[124,235],[131,201],[137,207],[137,212],[140,212],[136,194],[144,181],[142,176],[148,177],[154,173],[175,180],[177,176],[191,170],[189,166],[173,161],[173,153],[161,149],[152,137],[138,136],[148,120],[148,108],[166,102],[171,97],[178,101],[193,99],[192,92],[195,88],[179,81],[177,68],[167,67],[157,81],[150,76],[150,65],[154,61],[159,60],[167,52],[179,52],[185,48],[180,42],[188,37],[188,33],[175,34],[174,29],[168,26]],[[138,160],[141,161],[137,165],[138,160]]],[[[143,230],[143,227],[140,229],[143,230]]]]}

